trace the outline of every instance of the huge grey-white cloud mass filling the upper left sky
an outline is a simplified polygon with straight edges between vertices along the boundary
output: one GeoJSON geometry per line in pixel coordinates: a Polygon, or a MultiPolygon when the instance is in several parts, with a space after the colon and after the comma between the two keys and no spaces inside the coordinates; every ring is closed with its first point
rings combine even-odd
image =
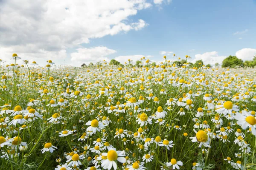
{"type": "Polygon", "coordinates": [[[129,17],[151,4],[146,0],[4,0],[0,6],[3,51],[58,57],[93,38],[140,30],[148,24],[141,19],[131,22],[129,17]]]}

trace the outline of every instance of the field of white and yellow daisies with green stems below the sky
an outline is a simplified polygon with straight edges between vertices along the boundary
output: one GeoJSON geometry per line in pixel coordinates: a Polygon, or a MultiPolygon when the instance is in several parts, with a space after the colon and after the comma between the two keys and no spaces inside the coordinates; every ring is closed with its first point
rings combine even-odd
{"type": "Polygon", "coordinates": [[[12,58],[0,68],[0,169],[256,169],[256,69],[12,58]]]}

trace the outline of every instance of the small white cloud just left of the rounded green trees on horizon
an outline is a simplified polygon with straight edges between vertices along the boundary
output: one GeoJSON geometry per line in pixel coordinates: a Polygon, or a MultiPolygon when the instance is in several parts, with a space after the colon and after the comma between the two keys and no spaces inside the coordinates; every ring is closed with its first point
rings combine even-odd
{"type": "Polygon", "coordinates": [[[221,64],[223,59],[225,59],[226,57],[227,56],[218,56],[217,51],[206,52],[204,54],[196,54],[195,59],[192,60],[192,63],[195,63],[195,61],[201,59],[204,62],[204,65],[214,65],[217,62],[221,64]]]}

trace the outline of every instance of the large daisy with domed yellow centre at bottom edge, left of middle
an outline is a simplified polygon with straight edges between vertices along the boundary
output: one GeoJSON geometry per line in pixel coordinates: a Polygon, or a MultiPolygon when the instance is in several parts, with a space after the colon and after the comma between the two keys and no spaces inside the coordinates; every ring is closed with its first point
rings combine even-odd
{"type": "Polygon", "coordinates": [[[125,163],[126,159],[125,157],[125,151],[116,151],[115,148],[110,148],[110,150],[108,151],[108,153],[102,153],[102,156],[107,156],[107,159],[105,161],[102,162],[101,166],[103,167],[103,169],[108,169],[110,170],[112,167],[114,170],[117,169],[117,164],[116,164],[116,160],[121,162],[121,163],[125,163]]]}

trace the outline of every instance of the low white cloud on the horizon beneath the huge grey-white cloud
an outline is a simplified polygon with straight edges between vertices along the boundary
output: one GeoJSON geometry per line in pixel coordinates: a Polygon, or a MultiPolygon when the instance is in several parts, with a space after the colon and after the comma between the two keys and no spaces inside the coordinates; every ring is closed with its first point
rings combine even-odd
{"type": "Polygon", "coordinates": [[[89,64],[90,62],[96,63],[99,61],[109,61],[106,56],[116,53],[115,50],[107,47],[92,47],[92,48],[78,48],[77,52],[71,53],[72,65],[80,66],[81,63],[89,64]]]}

